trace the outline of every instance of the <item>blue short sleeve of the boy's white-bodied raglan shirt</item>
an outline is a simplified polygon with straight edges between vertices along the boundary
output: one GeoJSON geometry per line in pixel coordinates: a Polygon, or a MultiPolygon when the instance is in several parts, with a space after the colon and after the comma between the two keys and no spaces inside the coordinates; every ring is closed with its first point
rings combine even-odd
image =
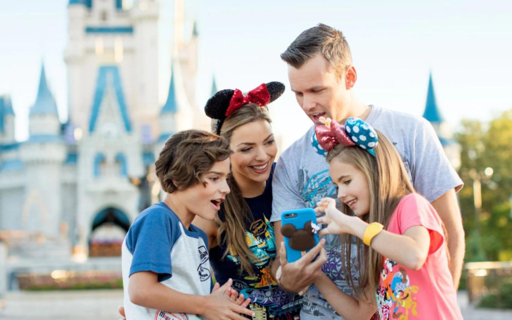
{"type": "Polygon", "coordinates": [[[130,276],[151,271],[158,274],[160,282],[169,279],[173,274],[171,239],[171,224],[165,212],[155,210],[136,221],[126,237],[126,247],[133,255],[130,276]]]}

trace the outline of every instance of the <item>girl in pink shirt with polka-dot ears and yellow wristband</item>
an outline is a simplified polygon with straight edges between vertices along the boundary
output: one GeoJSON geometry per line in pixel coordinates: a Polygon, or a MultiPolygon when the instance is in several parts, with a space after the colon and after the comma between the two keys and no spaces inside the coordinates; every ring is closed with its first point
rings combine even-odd
{"type": "Polygon", "coordinates": [[[316,134],[329,152],[329,173],[346,214],[330,198],[315,210],[326,212],[318,219],[328,224],[321,234],[345,236],[342,265],[354,296],[324,274],[315,281],[319,291],[345,319],[368,319],[375,311],[380,319],[462,319],[441,220],[414,192],[393,144],[358,118],[325,123],[316,134]],[[347,272],[355,264],[362,266],[359,279],[347,272]]]}

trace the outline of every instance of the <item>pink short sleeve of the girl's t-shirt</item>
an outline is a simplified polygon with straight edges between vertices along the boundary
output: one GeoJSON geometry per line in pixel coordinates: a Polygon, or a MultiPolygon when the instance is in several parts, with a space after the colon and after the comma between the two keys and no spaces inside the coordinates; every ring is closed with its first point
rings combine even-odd
{"type": "Polygon", "coordinates": [[[404,197],[397,208],[400,233],[414,226],[423,226],[429,231],[429,255],[441,247],[444,242],[441,219],[434,207],[422,196],[411,194],[404,197]]]}

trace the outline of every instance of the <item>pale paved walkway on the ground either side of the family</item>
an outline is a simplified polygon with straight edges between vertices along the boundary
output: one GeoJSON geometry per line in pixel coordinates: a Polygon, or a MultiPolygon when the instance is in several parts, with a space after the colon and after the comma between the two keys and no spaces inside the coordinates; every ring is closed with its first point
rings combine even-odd
{"type": "MultiPolygon", "coordinates": [[[[459,292],[458,301],[465,320],[512,319],[512,310],[475,309],[465,292],[459,292]]],[[[122,303],[122,290],[16,292],[0,301],[0,319],[118,320],[122,303]]]]}

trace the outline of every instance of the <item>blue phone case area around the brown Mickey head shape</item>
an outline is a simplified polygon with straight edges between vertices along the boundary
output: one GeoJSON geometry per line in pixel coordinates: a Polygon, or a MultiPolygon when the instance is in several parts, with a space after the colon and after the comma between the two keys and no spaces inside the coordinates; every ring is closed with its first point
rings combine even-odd
{"type": "MultiPolygon", "coordinates": [[[[302,209],[296,209],[296,210],[288,210],[284,211],[281,214],[281,226],[284,226],[286,224],[292,224],[295,226],[296,229],[304,229],[304,224],[308,221],[311,221],[312,223],[316,224],[316,214],[315,210],[312,208],[302,208],[302,209]],[[287,217],[287,215],[296,214],[295,217],[287,217]]],[[[278,232],[281,232],[279,230],[278,232]]],[[[314,238],[314,245],[312,245],[310,248],[306,250],[311,250],[316,244],[318,244],[318,233],[313,234],[314,238]]],[[[285,247],[286,247],[286,259],[288,260],[288,263],[292,263],[297,261],[298,259],[301,259],[302,253],[299,250],[295,250],[290,247],[290,239],[286,236],[284,236],[285,239],[285,247]]]]}

